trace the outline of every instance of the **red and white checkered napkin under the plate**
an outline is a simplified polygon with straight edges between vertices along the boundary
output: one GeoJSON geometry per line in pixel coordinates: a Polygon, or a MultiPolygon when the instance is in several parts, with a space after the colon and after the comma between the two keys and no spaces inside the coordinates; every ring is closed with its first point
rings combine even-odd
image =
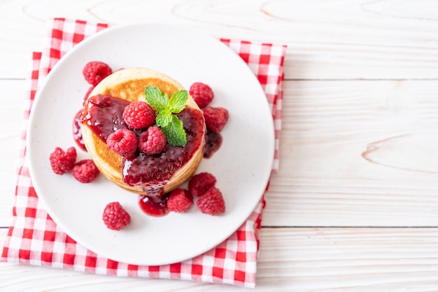
{"type": "MultiPolygon", "coordinates": [[[[254,287],[264,198],[248,220],[227,240],[205,254],[181,263],[145,266],[112,261],[75,242],[45,212],[29,177],[24,141],[32,101],[38,85],[52,66],[73,45],[106,24],[55,19],[49,23],[48,43],[43,52],[34,52],[31,78],[24,102],[24,131],[13,204],[13,221],[1,254],[1,261],[65,268],[99,275],[186,279],[199,282],[254,287]]],[[[281,130],[281,98],[285,46],[221,40],[239,54],[260,80],[272,108],[276,132],[273,171],[278,168],[278,138],[281,130]]]]}

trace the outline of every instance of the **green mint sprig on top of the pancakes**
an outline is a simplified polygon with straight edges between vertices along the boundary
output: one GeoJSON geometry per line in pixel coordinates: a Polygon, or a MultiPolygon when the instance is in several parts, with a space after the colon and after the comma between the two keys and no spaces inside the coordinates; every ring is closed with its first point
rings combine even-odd
{"type": "Polygon", "coordinates": [[[148,86],[145,89],[145,98],[149,105],[158,112],[155,122],[166,136],[167,143],[175,146],[185,146],[187,136],[183,128],[183,122],[174,114],[185,108],[188,100],[187,90],[179,90],[169,98],[158,87],[148,86]]]}

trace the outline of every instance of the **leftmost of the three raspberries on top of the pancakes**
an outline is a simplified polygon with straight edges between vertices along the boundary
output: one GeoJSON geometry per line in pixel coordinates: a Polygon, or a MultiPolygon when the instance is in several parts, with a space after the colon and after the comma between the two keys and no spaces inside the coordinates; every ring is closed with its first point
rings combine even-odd
{"type": "Polygon", "coordinates": [[[131,130],[118,129],[106,138],[106,145],[113,152],[130,158],[134,156],[137,149],[137,136],[131,130]]]}

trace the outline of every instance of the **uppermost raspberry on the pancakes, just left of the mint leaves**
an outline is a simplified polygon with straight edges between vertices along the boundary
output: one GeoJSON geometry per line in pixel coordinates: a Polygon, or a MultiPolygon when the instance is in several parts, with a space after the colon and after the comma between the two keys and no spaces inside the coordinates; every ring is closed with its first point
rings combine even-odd
{"type": "Polygon", "coordinates": [[[123,110],[123,119],[132,129],[146,129],[155,122],[155,110],[144,101],[129,103],[123,110]]]}

